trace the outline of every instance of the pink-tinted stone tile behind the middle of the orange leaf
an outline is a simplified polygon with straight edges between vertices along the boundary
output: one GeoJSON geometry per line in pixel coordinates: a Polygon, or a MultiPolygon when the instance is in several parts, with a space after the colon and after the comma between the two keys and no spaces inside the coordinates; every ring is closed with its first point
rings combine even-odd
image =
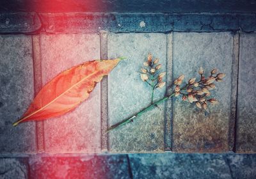
{"type": "MultiPolygon", "coordinates": [[[[84,61],[100,58],[96,34],[42,35],[42,82],[84,61]]],[[[100,152],[100,84],[74,111],[45,120],[45,152],[100,152]]]]}

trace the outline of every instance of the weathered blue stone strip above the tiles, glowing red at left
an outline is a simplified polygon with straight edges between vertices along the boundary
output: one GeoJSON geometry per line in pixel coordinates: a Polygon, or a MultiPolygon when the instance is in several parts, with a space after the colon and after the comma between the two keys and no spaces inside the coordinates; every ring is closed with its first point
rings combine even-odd
{"type": "Polygon", "coordinates": [[[256,31],[256,13],[0,13],[0,33],[256,31]],[[143,26],[141,26],[143,25],[143,26]]]}

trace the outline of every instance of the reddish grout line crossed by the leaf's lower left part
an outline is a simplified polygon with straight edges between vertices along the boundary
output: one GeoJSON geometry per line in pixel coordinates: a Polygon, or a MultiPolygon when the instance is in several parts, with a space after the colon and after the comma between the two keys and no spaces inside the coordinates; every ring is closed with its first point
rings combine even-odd
{"type": "MultiPolygon", "coordinates": [[[[34,89],[35,96],[42,88],[42,66],[40,51],[40,35],[32,36],[33,68],[34,68],[34,89]]],[[[44,152],[44,121],[36,121],[36,145],[38,152],[44,152]]]]}

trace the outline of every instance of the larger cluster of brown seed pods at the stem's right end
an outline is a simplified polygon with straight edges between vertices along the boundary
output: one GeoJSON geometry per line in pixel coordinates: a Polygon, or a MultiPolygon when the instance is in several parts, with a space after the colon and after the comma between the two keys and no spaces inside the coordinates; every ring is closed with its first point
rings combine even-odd
{"type": "Polygon", "coordinates": [[[211,75],[205,77],[202,67],[199,68],[198,74],[200,75],[199,81],[196,81],[196,78],[193,77],[188,82],[184,82],[184,75],[180,75],[173,82],[175,84],[173,93],[175,97],[182,95],[182,100],[193,103],[200,109],[207,109],[209,104],[218,103],[218,100],[211,98],[210,91],[216,88],[214,82],[222,81],[225,74],[217,74],[217,69],[214,68],[211,70],[211,75]]]}

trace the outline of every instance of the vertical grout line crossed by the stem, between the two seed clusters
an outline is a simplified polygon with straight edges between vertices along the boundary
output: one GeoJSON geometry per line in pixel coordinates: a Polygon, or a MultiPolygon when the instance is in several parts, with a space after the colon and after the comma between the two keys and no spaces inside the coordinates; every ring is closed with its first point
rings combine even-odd
{"type": "MultiPolygon", "coordinates": [[[[166,89],[172,85],[173,33],[166,35],[166,89]]],[[[170,95],[170,91],[166,91],[170,95]]],[[[172,149],[172,98],[166,102],[164,118],[164,150],[172,149]]]]}

